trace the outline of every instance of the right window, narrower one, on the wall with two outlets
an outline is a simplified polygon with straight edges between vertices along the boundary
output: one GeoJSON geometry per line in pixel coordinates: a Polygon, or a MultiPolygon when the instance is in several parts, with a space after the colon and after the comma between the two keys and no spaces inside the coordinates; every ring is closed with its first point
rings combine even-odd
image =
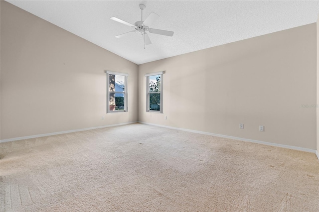
{"type": "Polygon", "coordinates": [[[163,72],[146,74],[146,111],[163,112],[163,72]]]}

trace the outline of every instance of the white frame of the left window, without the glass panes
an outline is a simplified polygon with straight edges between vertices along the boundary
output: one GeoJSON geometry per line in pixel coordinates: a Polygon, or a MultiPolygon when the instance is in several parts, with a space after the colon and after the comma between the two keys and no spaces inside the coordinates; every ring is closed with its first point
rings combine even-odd
{"type": "Polygon", "coordinates": [[[129,74],[113,71],[105,71],[106,73],[106,113],[128,112],[128,78],[129,74]],[[110,75],[124,76],[124,92],[111,92],[124,94],[124,109],[123,110],[110,110],[110,75]]]}

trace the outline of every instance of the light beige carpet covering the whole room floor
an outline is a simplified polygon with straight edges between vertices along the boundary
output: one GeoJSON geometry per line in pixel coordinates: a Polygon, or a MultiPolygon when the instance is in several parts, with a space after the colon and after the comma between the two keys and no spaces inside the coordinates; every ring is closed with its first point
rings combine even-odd
{"type": "Polygon", "coordinates": [[[1,211],[319,211],[312,153],[145,124],[33,140],[0,160],[1,211]]]}

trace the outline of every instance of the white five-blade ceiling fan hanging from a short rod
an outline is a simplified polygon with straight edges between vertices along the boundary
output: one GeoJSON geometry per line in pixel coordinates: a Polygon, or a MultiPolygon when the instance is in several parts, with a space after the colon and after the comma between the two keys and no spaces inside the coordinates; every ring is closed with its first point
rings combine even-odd
{"type": "Polygon", "coordinates": [[[149,26],[154,21],[156,21],[160,17],[160,15],[158,15],[158,14],[156,14],[154,12],[151,12],[151,14],[143,21],[143,10],[145,8],[146,8],[146,6],[144,4],[140,4],[141,20],[136,21],[135,24],[126,22],[126,21],[121,20],[120,18],[117,18],[117,17],[110,17],[112,20],[115,20],[117,22],[123,23],[123,24],[131,26],[131,27],[134,27],[133,31],[129,31],[129,32],[117,35],[115,37],[116,38],[121,38],[121,37],[123,37],[123,36],[125,36],[125,35],[127,35],[127,34],[129,34],[131,32],[135,32],[135,33],[139,32],[143,36],[144,48],[145,48],[145,45],[149,45],[149,44],[152,43],[151,40],[150,40],[150,37],[148,35],[148,32],[154,33],[154,34],[166,35],[166,36],[173,36],[174,32],[172,32],[172,31],[149,28],[149,26]]]}

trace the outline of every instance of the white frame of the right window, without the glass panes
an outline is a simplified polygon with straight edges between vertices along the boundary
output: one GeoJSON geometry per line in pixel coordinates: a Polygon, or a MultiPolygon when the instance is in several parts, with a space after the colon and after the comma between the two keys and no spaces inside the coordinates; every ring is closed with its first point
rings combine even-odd
{"type": "Polygon", "coordinates": [[[146,74],[146,111],[147,112],[156,112],[163,113],[163,74],[164,72],[155,72],[146,74]],[[150,92],[150,77],[160,75],[160,92],[150,92]],[[151,110],[150,109],[150,94],[160,94],[160,110],[151,110]]]}

